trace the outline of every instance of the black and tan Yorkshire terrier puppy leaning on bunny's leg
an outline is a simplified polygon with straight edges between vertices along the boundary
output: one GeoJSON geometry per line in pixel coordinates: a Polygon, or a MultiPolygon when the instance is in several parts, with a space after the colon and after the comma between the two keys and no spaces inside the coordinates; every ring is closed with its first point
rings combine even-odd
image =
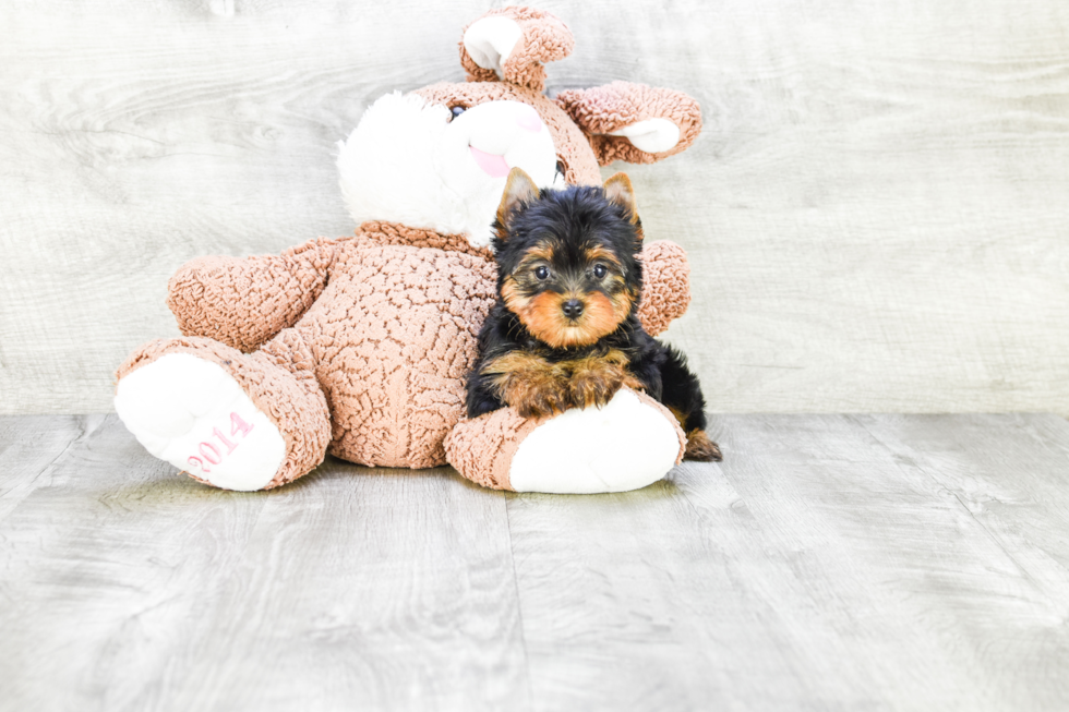
{"type": "Polygon", "coordinates": [[[644,236],[627,176],[539,191],[514,168],[494,232],[497,303],[479,333],[468,417],[505,406],[525,418],[600,407],[627,386],[676,417],[685,459],[720,460],[698,378],[638,321],[644,236]]]}

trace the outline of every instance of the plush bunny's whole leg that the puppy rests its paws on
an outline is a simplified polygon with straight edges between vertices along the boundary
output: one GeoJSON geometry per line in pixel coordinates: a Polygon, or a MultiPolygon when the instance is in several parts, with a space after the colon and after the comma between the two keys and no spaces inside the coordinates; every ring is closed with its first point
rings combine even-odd
{"type": "Polygon", "coordinates": [[[666,408],[624,388],[600,409],[533,421],[503,408],[463,421],[445,449],[460,474],[483,486],[592,494],[657,482],[681,461],[685,444],[666,408]]]}

